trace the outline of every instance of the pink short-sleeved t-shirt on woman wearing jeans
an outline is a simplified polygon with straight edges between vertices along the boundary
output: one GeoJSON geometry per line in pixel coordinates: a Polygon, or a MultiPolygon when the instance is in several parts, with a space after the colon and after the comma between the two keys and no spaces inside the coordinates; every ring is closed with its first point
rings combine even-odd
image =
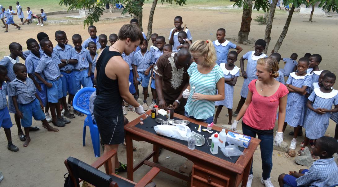
{"type": "Polygon", "coordinates": [[[256,90],[256,81],[249,84],[249,91],[252,92],[252,101],[243,117],[243,122],[258,130],[271,130],[276,122],[276,112],[279,106],[279,99],[289,93],[285,85],[280,84],[278,90],[271,96],[261,96],[256,90]]]}

